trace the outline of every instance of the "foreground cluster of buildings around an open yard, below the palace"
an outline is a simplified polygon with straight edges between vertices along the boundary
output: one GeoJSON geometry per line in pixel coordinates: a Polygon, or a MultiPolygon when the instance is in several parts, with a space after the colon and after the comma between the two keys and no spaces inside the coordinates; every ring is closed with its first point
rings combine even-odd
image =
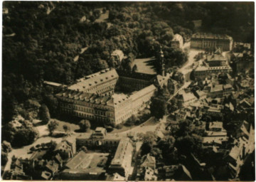
{"type": "MultiPolygon", "coordinates": [[[[159,127],[155,133],[164,134],[159,127]]],[[[11,161],[11,171],[5,178],[11,180],[107,180],[157,181],[164,178],[191,180],[185,166],[156,168],[156,159],[150,154],[140,156],[142,141],[136,134],[126,137],[108,134],[97,127],[92,133],[81,133],[76,139],[64,137],[58,144],[51,141],[31,149],[29,159],[11,161]]]]}

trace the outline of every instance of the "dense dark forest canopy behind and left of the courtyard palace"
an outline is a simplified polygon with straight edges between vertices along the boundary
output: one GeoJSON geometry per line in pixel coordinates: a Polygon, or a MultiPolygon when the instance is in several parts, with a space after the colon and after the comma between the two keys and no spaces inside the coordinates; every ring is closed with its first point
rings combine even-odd
{"type": "MultiPolygon", "coordinates": [[[[1,119],[6,128],[18,114],[30,122],[40,117],[48,120],[44,105],[51,116],[57,115],[58,100],[43,81],[69,85],[113,67],[117,65],[110,56],[113,50],[127,55],[121,65],[127,71],[137,70],[132,69],[134,58],[155,56],[154,67],[160,73],[160,48],[166,70],[182,65],[187,53],[171,48],[170,41],[176,33],[188,41],[197,31],[193,20],[202,20],[201,31],[227,33],[235,41],[254,40],[251,3],[5,1],[3,6],[9,12],[3,14],[2,40],[1,119]],[[99,7],[109,13],[107,20],[97,19],[99,7]],[[44,116],[38,115],[40,110],[44,116]]],[[[164,108],[160,102],[158,106],[164,108]]],[[[157,118],[163,115],[151,113],[157,118]]],[[[10,142],[18,139],[16,134],[25,134],[23,144],[35,137],[26,129],[6,131],[10,142]]]]}

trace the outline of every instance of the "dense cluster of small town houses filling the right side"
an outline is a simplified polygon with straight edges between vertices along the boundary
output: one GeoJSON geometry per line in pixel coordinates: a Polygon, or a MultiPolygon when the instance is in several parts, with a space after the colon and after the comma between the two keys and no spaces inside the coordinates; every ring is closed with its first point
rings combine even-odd
{"type": "MultiPolygon", "coordinates": [[[[199,41],[196,38],[203,36],[195,36],[195,40],[199,41]]],[[[211,45],[206,43],[200,46],[208,44],[211,45]]],[[[249,46],[238,45],[246,48],[249,46]]],[[[250,59],[254,58],[250,53],[247,48],[242,53],[231,52],[230,58],[228,54],[224,56],[220,49],[214,53],[202,54],[193,70],[195,81],[178,92],[173,99],[178,109],[167,117],[167,129],[171,129],[183,119],[191,120],[193,125],[203,132],[203,149],[208,149],[213,156],[210,161],[197,159],[191,152],[191,157],[187,159],[189,164],[185,166],[190,169],[192,177],[196,174],[203,176],[202,180],[236,180],[240,177],[247,156],[255,150],[254,79],[250,69],[243,69],[253,66],[250,65],[253,63],[250,59]],[[233,62],[236,64],[235,74],[232,73],[233,62]],[[242,64],[245,66],[242,67],[242,64]],[[233,131],[227,127],[226,114],[238,116],[234,122],[240,122],[235,125],[233,131]]]]}

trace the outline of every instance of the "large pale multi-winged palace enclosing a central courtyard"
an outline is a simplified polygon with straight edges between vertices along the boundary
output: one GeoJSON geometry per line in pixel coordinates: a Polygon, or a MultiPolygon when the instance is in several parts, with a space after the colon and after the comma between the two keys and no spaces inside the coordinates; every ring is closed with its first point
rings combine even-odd
{"type": "MultiPolygon", "coordinates": [[[[114,93],[118,79],[119,75],[114,69],[102,70],[81,78],[55,95],[59,100],[60,111],[112,124],[124,122],[146,107],[154,96],[156,87],[151,82],[145,83],[144,80],[137,79],[138,87],[134,87],[131,90],[133,92],[128,95],[114,93]]],[[[127,85],[127,82],[120,82],[120,87],[122,84],[127,85]]]]}

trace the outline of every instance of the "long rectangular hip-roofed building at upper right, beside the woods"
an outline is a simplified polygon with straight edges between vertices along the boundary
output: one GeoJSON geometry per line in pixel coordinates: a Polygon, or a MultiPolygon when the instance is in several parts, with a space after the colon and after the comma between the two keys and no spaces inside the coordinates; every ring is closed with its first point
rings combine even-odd
{"type": "Polygon", "coordinates": [[[229,51],[232,47],[233,38],[227,35],[195,33],[191,37],[191,48],[221,48],[223,51],[229,51]]]}

